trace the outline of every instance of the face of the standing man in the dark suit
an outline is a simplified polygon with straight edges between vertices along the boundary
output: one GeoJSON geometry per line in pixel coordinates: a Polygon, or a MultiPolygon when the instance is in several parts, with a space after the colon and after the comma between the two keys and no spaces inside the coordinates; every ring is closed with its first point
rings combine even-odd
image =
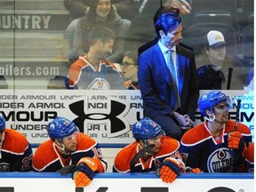
{"type": "Polygon", "coordinates": [[[171,49],[174,45],[180,44],[180,39],[182,39],[181,31],[181,23],[177,28],[170,30],[166,35],[163,31],[160,31],[161,43],[169,49],[171,49]]]}

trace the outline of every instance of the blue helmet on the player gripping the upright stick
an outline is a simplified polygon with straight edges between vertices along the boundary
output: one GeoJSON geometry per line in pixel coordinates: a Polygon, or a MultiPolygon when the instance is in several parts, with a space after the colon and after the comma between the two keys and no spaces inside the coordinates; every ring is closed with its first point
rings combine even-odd
{"type": "Polygon", "coordinates": [[[211,91],[204,93],[198,100],[199,110],[203,116],[206,116],[206,109],[213,112],[213,107],[224,101],[228,101],[228,105],[231,107],[231,101],[223,92],[211,91]]]}

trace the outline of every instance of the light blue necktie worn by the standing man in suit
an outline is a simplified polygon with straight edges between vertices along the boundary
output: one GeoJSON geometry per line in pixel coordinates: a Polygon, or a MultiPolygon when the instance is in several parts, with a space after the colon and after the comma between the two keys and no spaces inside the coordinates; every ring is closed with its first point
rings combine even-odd
{"type": "Polygon", "coordinates": [[[179,93],[176,78],[176,68],[174,67],[174,63],[172,61],[172,50],[168,50],[167,67],[169,68],[171,73],[172,89],[175,95],[175,100],[172,102],[172,107],[174,108],[174,110],[176,110],[179,107],[179,93]]]}

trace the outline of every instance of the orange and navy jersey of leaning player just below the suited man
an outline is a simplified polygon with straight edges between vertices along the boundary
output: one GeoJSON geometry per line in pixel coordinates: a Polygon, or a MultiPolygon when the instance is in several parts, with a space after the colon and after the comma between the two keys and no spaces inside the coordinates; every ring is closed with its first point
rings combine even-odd
{"type": "MultiPolygon", "coordinates": [[[[150,156],[146,162],[140,157],[135,164],[134,172],[155,172],[156,168],[163,163],[166,157],[180,157],[178,148],[180,148],[178,140],[164,136],[162,138],[162,146],[158,153],[150,156]]],[[[121,149],[115,157],[113,172],[131,172],[130,163],[140,150],[141,147],[137,141],[134,141],[132,144],[121,149]]]]}

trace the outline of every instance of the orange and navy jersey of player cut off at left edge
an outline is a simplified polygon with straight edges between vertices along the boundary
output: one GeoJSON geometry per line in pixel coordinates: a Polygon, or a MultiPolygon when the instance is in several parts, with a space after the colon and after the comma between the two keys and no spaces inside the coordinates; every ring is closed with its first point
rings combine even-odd
{"type": "Polygon", "coordinates": [[[4,141],[0,146],[0,172],[32,171],[32,156],[32,148],[24,135],[4,129],[4,141]]]}

